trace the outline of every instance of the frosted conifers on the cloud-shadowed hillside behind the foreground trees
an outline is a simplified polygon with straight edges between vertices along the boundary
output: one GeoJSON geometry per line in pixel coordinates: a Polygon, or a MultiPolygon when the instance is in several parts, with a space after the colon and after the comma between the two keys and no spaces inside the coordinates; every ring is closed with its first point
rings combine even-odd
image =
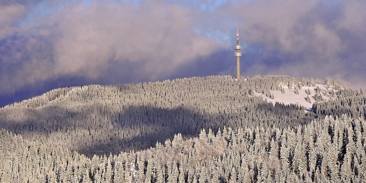
{"type": "MultiPolygon", "coordinates": [[[[291,104],[276,105],[253,95],[299,80],[289,76],[255,76],[241,87],[229,76],[116,86],[89,85],[55,89],[0,109],[0,127],[51,147],[94,154],[141,150],[174,134],[195,137],[219,127],[298,126],[314,113],[291,104]]],[[[312,85],[311,79],[303,79],[312,85]]]]}

